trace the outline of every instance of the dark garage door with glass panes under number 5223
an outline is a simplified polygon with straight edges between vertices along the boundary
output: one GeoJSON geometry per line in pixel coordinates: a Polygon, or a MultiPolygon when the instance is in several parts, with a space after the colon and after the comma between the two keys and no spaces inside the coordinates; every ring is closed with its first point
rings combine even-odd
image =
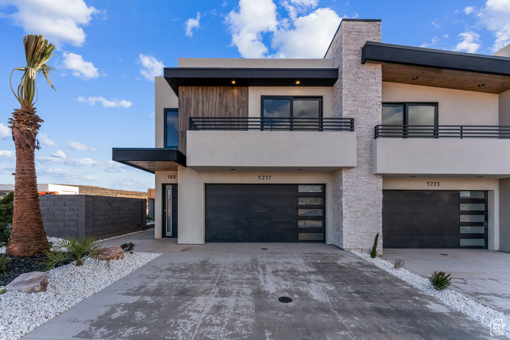
{"type": "Polygon", "coordinates": [[[384,248],[487,248],[487,191],[382,191],[384,248]]]}

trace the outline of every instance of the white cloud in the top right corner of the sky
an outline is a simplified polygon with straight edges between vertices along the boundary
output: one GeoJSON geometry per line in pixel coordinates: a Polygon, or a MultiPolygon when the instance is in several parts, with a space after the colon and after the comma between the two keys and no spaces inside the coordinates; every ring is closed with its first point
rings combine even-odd
{"type": "Polygon", "coordinates": [[[493,51],[510,43],[510,0],[489,0],[473,13],[478,17],[478,25],[494,33],[493,51]]]}

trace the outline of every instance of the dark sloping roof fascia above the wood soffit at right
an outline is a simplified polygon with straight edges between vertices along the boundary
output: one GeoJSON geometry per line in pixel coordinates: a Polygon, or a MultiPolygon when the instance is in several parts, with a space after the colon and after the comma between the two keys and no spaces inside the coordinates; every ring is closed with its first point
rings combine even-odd
{"type": "Polygon", "coordinates": [[[510,58],[367,41],[367,61],[510,76],[510,58]]]}

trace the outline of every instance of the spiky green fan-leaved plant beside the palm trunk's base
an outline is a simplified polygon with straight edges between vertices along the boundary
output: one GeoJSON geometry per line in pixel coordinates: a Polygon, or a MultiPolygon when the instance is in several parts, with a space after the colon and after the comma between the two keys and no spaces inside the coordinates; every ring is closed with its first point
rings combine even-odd
{"type": "MultiPolygon", "coordinates": [[[[85,237],[81,240],[77,238],[60,239],[53,244],[53,251],[46,251],[46,257],[40,261],[44,266],[44,271],[49,271],[55,266],[74,263],[76,266],[83,266],[88,258],[94,259],[99,263],[99,255],[105,253],[103,243],[98,243],[93,237],[85,237]]],[[[110,260],[106,260],[107,265],[110,260]]]]}

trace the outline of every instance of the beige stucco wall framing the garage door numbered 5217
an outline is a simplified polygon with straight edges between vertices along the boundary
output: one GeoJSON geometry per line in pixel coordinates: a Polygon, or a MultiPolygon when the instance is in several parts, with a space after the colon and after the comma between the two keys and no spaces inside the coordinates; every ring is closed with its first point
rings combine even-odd
{"type": "MultiPolygon", "coordinates": [[[[207,183],[241,184],[325,184],[326,185],[326,243],[331,244],[333,203],[331,200],[332,176],[323,173],[289,172],[195,172],[179,167],[179,243],[203,244],[205,242],[205,185],[207,183]],[[267,181],[259,175],[270,175],[267,181]]],[[[159,176],[158,173],[156,175],[159,176]]],[[[158,179],[157,179],[158,180],[158,179]]],[[[159,180],[161,181],[161,179],[159,180]]],[[[158,197],[158,196],[157,196],[158,197]]],[[[161,219],[156,230],[161,230],[161,219]]],[[[161,232],[161,231],[160,231],[161,232]]]]}

